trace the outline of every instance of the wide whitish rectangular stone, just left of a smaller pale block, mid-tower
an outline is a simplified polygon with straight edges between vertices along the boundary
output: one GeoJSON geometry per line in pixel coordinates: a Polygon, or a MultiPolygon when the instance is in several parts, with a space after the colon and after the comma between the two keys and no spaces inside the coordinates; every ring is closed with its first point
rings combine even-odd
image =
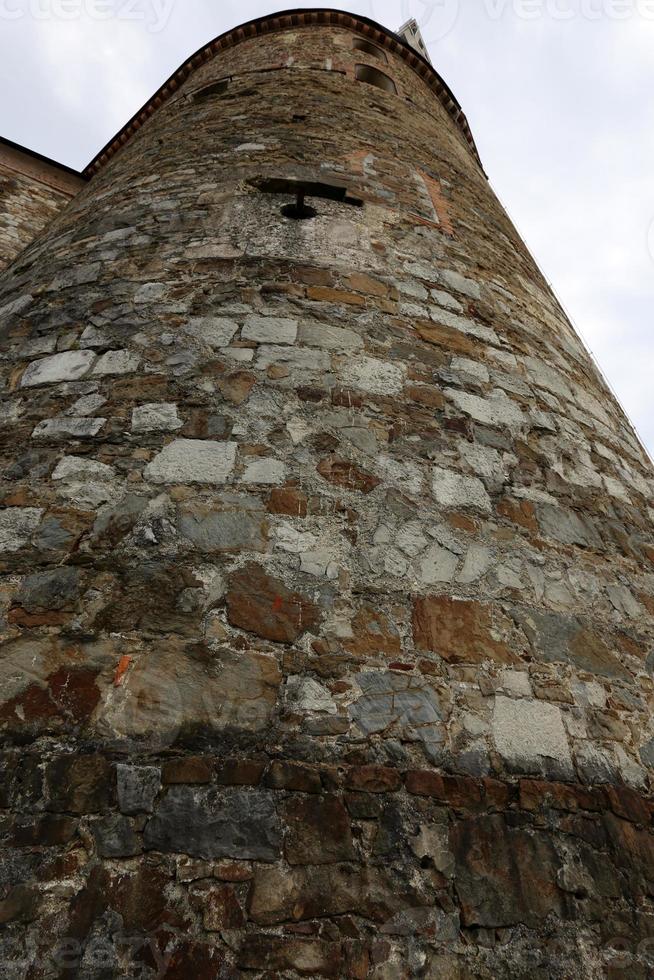
{"type": "Polygon", "coordinates": [[[236,443],[175,439],[145,469],[153,483],[226,483],[236,460],[236,443]]]}

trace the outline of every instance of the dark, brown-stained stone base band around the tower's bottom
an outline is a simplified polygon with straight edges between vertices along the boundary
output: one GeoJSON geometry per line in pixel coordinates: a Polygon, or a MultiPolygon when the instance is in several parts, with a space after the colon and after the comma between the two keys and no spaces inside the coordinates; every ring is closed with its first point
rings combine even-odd
{"type": "Polygon", "coordinates": [[[3,801],[24,813],[6,841],[26,879],[0,903],[3,956],[24,958],[27,931],[38,964],[17,976],[650,975],[652,806],[624,788],[43,761],[11,757],[3,801]]]}

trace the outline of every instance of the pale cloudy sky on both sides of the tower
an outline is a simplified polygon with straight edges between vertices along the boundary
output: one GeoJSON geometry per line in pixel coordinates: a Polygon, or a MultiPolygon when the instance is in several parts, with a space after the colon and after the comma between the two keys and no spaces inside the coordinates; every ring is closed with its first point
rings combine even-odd
{"type": "MultiPolygon", "coordinates": [[[[330,5],[419,22],[495,192],[654,455],[654,0],[330,5]]],[[[280,8],[0,0],[0,135],[82,169],[197,48],[280,8]]]]}

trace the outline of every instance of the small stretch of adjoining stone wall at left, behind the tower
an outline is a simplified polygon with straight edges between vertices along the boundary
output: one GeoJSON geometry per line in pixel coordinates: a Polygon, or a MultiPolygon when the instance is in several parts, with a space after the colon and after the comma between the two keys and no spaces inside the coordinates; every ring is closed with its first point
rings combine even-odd
{"type": "Polygon", "coordinates": [[[81,177],[0,140],[0,269],[84,186],[81,177]]]}

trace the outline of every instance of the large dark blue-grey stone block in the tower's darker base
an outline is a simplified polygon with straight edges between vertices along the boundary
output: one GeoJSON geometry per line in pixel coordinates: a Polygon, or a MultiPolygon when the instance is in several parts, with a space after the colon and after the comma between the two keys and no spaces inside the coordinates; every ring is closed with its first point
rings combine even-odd
{"type": "Polygon", "coordinates": [[[275,861],[282,833],[270,795],[173,786],[146,824],[144,842],[193,857],[275,861]]]}

